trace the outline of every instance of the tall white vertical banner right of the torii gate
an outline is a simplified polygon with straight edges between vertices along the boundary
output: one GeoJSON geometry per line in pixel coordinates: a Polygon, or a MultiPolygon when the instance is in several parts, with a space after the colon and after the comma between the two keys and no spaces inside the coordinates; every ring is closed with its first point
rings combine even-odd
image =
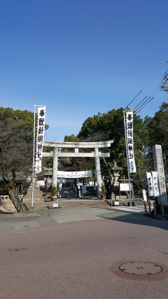
{"type": "Polygon", "coordinates": [[[134,148],[133,148],[133,110],[126,111],[126,135],[127,135],[127,150],[130,173],[136,172],[134,148]]]}

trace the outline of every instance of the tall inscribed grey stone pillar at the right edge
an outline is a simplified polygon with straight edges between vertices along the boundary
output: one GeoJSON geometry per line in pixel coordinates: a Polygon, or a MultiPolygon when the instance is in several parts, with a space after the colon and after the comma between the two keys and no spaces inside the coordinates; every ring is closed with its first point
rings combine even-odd
{"type": "Polygon", "coordinates": [[[164,167],[163,167],[163,158],[162,158],[162,150],[161,145],[154,145],[152,147],[153,151],[153,161],[154,161],[154,168],[155,171],[158,171],[158,189],[159,189],[159,196],[158,197],[158,204],[160,205],[163,202],[164,205],[167,205],[167,192],[166,192],[166,181],[164,176],[164,167]]]}

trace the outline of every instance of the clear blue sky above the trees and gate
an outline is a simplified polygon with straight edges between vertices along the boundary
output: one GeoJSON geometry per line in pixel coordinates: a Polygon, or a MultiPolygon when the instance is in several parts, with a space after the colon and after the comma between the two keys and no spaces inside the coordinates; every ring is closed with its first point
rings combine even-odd
{"type": "Polygon", "coordinates": [[[46,139],[76,135],[87,117],[125,108],[167,62],[167,16],[159,0],[1,0],[1,106],[46,105],[46,139]]]}

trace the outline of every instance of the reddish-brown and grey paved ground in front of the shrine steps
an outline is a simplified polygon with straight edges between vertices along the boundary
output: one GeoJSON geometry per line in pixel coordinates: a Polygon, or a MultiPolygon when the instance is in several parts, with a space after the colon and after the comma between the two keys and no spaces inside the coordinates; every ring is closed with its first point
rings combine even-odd
{"type": "Polygon", "coordinates": [[[1,298],[166,299],[168,222],[143,213],[84,207],[1,214],[1,298]],[[118,276],[127,260],[157,263],[162,277],[118,276]]]}

